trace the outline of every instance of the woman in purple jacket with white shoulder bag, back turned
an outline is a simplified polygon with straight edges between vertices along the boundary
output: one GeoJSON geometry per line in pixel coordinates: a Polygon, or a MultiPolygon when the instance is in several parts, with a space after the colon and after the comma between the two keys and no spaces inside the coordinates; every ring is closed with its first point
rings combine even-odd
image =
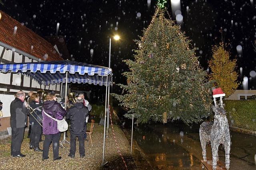
{"type": "MultiPolygon", "coordinates": [[[[66,110],[57,102],[57,97],[54,93],[47,94],[46,101],[43,104],[43,110],[53,118],[58,120],[64,119],[66,115],[66,110]]],[[[57,129],[57,121],[54,121],[52,118],[48,117],[46,114],[43,115],[43,134],[44,139],[44,148],[43,148],[43,159],[48,159],[49,147],[52,141],[53,148],[53,160],[61,159],[59,156],[59,141],[60,141],[60,131],[57,129]]]]}

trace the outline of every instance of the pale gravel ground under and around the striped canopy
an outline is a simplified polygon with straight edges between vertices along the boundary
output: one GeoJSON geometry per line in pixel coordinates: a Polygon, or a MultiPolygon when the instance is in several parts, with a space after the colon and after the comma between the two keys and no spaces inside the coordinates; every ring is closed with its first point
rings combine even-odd
{"type": "MultiPolygon", "coordinates": [[[[87,127],[90,127],[90,123],[88,123],[87,127]]],[[[130,144],[127,138],[124,135],[124,132],[118,127],[118,125],[114,125],[114,132],[116,136],[116,141],[118,142],[119,149],[124,156],[128,169],[138,169],[136,168],[135,161],[133,157],[130,155],[130,144]]],[[[59,156],[62,156],[61,160],[53,161],[53,152],[52,145],[50,146],[49,151],[49,159],[42,161],[42,152],[34,152],[34,150],[29,149],[29,139],[27,137],[27,132],[24,135],[24,141],[21,147],[21,153],[26,154],[24,158],[14,158],[10,156],[10,145],[11,138],[7,137],[5,139],[0,139],[0,169],[1,170],[12,170],[12,169],[26,169],[26,170],[34,170],[34,169],[55,169],[55,170],[73,170],[73,169],[90,169],[90,170],[98,170],[98,169],[126,169],[122,158],[120,157],[116,143],[114,141],[114,135],[112,133],[112,128],[110,125],[108,131],[108,137],[105,142],[105,161],[108,162],[104,166],[102,166],[102,153],[103,153],[103,133],[104,127],[95,124],[94,130],[92,134],[92,144],[90,143],[90,137],[87,136],[89,141],[85,141],[85,152],[86,156],[84,158],[80,158],[79,149],[76,145],[76,157],[70,158],[68,157],[70,145],[67,143],[64,144],[65,148],[60,148],[59,156]]],[[[66,138],[69,141],[69,133],[66,138]]],[[[44,139],[44,137],[43,137],[44,139]]],[[[63,139],[63,135],[60,137],[63,139]]],[[[77,144],[79,142],[77,141],[77,144]]],[[[40,143],[40,148],[42,149],[43,143],[40,143]]]]}

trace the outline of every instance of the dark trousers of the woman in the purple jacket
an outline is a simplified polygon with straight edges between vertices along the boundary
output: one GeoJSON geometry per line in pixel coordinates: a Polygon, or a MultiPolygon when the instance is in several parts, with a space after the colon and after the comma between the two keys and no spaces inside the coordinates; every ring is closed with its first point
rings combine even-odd
{"type": "Polygon", "coordinates": [[[44,135],[43,157],[47,158],[52,141],[53,158],[59,157],[60,132],[53,135],[44,135]]]}

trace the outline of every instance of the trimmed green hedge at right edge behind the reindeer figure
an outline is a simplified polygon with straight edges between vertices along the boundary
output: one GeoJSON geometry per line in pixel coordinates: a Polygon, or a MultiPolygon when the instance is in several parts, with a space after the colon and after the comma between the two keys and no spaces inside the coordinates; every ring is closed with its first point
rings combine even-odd
{"type": "Polygon", "coordinates": [[[256,100],[224,100],[230,125],[256,131],[256,100]]]}

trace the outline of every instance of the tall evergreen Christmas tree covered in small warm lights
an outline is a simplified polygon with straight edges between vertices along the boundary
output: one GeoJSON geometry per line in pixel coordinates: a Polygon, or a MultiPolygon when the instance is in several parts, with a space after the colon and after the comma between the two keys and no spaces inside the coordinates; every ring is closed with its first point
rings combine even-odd
{"type": "MultiPolygon", "coordinates": [[[[166,9],[157,8],[143,36],[136,40],[135,61],[125,60],[127,85],[119,84],[126,94],[113,94],[136,123],[150,120],[180,119],[198,122],[210,113],[210,84],[190,41],[179,25],[165,18],[166,9]]],[[[170,18],[170,16],[168,16],[170,18]]]]}

